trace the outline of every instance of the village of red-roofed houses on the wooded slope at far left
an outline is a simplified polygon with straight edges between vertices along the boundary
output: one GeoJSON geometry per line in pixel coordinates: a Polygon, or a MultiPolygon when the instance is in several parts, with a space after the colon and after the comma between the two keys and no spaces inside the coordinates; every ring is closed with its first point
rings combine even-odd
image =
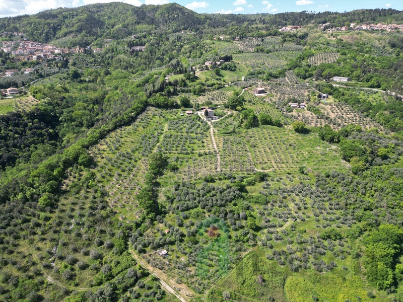
{"type": "MultiPolygon", "coordinates": [[[[61,48],[55,45],[42,44],[39,42],[33,42],[29,40],[24,41],[4,41],[1,46],[2,51],[11,53],[16,56],[14,61],[25,60],[41,60],[41,59],[62,59],[58,56],[63,53],[85,53],[91,50],[91,46],[76,48],[61,48]]],[[[101,48],[97,48],[94,52],[102,51],[101,48]]]]}

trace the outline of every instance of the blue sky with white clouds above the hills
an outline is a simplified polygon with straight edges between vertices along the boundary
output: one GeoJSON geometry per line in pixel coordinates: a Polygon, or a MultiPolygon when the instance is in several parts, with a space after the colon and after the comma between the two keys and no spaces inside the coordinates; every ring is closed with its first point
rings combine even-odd
{"type": "MultiPolygon", "coordinates": [[[[60,7],[73,8],[111,0],[0,0],[0,18],[60,7]]],[[[158,5],[176,2],[197,13],[208,14],[256,14],[285,12],[344,12],[358,9],[392,8],[403,10],[403,0],[120,0],[135,6],[158,5]]]]}

